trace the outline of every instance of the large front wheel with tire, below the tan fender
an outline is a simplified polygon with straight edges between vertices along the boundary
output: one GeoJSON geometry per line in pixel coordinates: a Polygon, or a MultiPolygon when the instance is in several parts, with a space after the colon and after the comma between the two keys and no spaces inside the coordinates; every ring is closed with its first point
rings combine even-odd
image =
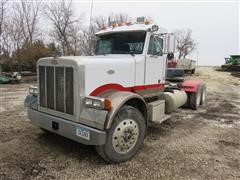
{"type": "Polygon", "coordinates": [[[146,124],[138,109],[123,106],[107,132],[106,143],[96,146],[98,154],[110,163],[131,159],[143,144],[146,124]]]}

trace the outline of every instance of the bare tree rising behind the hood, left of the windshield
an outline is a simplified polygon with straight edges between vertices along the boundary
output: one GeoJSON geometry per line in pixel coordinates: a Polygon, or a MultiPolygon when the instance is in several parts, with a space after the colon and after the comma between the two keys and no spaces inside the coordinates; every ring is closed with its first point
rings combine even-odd
{"type": "Polygon", "coordinates": [[[75,28],[80,24],[80,20],[74,17],[71,8],[71,1],[52,2],[47,5],[46,15],[53,24],[51,36],[61,45],[64,55],[74,54],[74,48],[71,45],[71,33],[75,33],[75,28]]]}

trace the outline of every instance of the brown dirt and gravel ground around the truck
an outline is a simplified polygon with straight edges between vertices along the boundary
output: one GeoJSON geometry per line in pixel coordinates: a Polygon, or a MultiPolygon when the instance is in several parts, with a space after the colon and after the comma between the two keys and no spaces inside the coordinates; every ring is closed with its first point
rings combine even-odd
{"type": "Polygon", "coordinates": [[[30,84],[0,88],[0,179],[240,179],[240,78],[200,67],[207,104],[151,126],[139,153],[109,165],[85,146],[30,124],[30,84]]]}

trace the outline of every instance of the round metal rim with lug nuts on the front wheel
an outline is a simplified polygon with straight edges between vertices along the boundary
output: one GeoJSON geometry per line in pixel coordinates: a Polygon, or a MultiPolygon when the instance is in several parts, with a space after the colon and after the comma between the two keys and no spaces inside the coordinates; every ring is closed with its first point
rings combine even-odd
{"type": "Polygon", "coordinates": [[[117,153],[129,152],[136,144],[139,127],[133,119],[125,119],[117,125],[113,132],[112,144],[117,153]]]}

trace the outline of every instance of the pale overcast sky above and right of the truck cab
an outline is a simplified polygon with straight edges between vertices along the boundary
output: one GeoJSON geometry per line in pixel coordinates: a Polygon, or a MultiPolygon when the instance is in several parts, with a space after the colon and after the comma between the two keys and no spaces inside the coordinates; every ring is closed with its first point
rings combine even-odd
{"type": "MultiPolygon", "coordinates": [[[[76,15],[84,14],[84,22],[89,23],[91,1],[75,0],[73,7],[76,15]]],[[[240,54],[238,1],[93,0],[93,17],[111,13],[126,13],[133,19],[150,16],[169,32],[192,29],[193,38],[199,43],[200,65],[221,65],[224,57],[240,54]]],[[[192,58],[197,59],[197,52],[192,58]]]]}

